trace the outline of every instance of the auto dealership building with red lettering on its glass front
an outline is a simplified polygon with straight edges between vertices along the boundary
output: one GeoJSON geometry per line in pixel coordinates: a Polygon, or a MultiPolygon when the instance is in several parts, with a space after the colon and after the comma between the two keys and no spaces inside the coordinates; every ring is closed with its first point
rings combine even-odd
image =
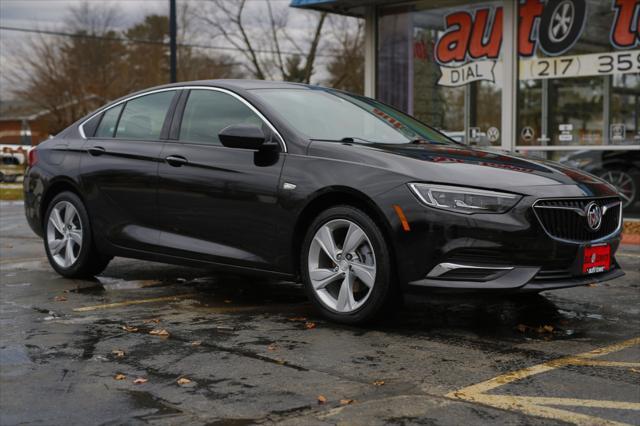
{"type": "Polygon", "coordinates": [[[640,0],[291,5],[365,19],[367,96],[470,145],[600,161],[638,186],[640,0]]]}

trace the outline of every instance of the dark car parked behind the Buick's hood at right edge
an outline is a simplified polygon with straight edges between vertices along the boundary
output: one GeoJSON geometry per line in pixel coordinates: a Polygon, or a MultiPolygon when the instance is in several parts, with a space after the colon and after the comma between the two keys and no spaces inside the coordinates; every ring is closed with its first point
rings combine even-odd
{"type": "Polygon", "coordinates": [[[640,150],[582,150],[562,157],[560,162],[615,186],[624,209],[631,209],[640,201],[640,150]]]}

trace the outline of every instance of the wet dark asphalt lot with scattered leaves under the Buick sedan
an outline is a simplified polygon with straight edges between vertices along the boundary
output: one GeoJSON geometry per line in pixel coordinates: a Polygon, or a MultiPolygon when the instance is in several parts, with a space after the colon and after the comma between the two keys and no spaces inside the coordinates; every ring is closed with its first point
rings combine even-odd
{"type": "Polygon", "coordinates": [[[638,246],[609,283],[411,297],[357,328],[296,283],[126,259],[61,278],[22,209],[0,204],[0,424],[640,424],[638,246]]]}

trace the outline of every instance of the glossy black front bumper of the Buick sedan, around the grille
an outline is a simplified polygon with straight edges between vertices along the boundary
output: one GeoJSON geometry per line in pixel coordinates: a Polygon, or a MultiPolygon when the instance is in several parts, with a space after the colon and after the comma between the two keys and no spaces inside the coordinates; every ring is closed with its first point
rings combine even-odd
{"type": "MultiPolygon", "coordinates": [[[[389,194],[384,202],[401,205],[411,227],[409,231],[403,230],[390,212],[399,281],[407,291],[420,288],[543,291],[621,276],[623,273],[615,262],[619,228],[614,227],[604,238],[596,238],[598,243],[611,247],[611,269],[588,276],[582,275],[583,250],[596,241],[569,242],[546,232],[533,205],[548,195],[561,197],[560,193],[546,194],[550,191],[525,196],[509,212],[493,215],[455,214],[426,207],[414,201],[415,197],[407,197],[406,192],[403,195],[403,191],[396,191],[394,197],[389,194]],[[434,274],[434,269],[442,264],[466,265],[469,270],[434,274]],[[471,271],[474,267],[493,271],[478,276],[471,271]]],[[[585,194],[581,197],[589,198],[585,194]]],[[[561,222],[560,226],[573,229],[569,222],[561,222]]]]}

